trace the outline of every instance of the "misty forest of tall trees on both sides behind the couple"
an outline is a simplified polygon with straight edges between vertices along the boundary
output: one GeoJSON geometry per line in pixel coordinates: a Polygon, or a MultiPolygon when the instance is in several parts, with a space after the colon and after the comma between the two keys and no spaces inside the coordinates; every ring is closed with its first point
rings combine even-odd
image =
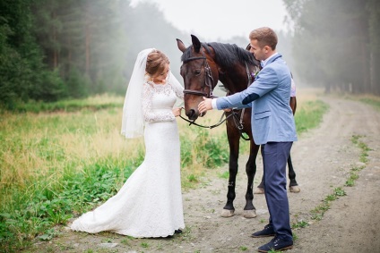
{"type": "MultiPolygon", "coordinates": [[[[282,37],[298,82],[326,92],[380,95],[380,1],[283,3],[293,29],[282,37]]],[[[28,101],[124,96],[142,48],[160,48],[179,70],[176,38],[189,35],[149,2],[3,0],[0,105],[12,110],[28,101]]],[[[244,40],[236,39],[229,43],[244,40]]]]}

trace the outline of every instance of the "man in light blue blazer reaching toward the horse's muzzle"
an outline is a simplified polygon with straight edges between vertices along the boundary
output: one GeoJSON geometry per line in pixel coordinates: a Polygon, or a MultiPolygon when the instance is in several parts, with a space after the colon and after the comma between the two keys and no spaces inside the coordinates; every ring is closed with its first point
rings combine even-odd
{"type": "Polygon", "coordinates": [[[289,201],[286,190],[286,164],[296,126],[289,106],[291,76],[282,56],[276,52],[277,35],[267,27],[251,31],[250,52],[262,61],[263,69],[246,89],[228,97],[205,98],[198,106],[203,113],[212,109],[227,109],[252,105],[252,132],[255,144],[261,145],[263,179],[269,223],[252,237],[274,238],[259,247],[259,252],[271,249],[292,249],[293,238],[289,222],[289,201]]]}

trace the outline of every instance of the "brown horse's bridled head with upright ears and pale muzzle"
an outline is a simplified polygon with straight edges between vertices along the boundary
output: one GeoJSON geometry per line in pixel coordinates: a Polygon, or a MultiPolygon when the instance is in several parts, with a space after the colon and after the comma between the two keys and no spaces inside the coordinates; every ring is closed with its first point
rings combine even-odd
{"type": "Polygon", "coordinates": [[[185,84],[185,112],[190,120],[196,120],[199,114],[198,105],[203,97],[212,97],[212,90],[218,82],[218,69],[212,58],[212,50],[202,44],[194,35],[192,46],[186,46],[177,39],[177,46],[182,51],[181,76],[185,84]]]}

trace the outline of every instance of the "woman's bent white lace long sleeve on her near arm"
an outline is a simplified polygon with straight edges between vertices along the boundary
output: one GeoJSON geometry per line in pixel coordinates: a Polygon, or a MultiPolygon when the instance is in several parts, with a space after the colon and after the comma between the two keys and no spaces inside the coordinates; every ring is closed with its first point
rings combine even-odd
{"type": "Polygon", "coordinates": [[[153,110],[152,97],[154,88],[149,83],[144,83],[142,87],[142,114],[145,122],[169,122],[176,117],[171,110],[153,110]]]}

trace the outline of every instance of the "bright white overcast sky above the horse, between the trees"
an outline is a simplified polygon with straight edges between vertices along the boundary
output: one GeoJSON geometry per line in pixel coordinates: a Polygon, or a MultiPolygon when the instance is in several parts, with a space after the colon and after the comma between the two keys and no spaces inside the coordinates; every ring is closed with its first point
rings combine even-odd
{"type": "Polygon", "coordinates": [[[177,29],[206,40],[247,38],[251,30],[263,26],[288,30],[282,0],[131,0],[131,5],[142,1],[159,4],[177,29]]]}

